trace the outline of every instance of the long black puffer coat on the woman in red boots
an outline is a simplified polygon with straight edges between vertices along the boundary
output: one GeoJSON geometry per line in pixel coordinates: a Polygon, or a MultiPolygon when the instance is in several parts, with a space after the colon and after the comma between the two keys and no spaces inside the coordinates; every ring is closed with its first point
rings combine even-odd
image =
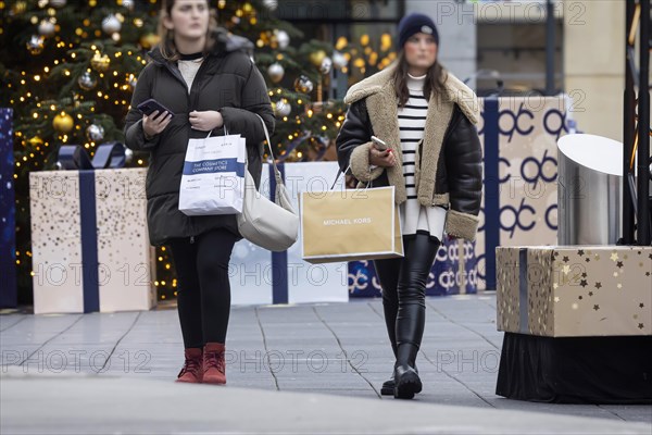
{"type": "MultiPolygon", "coordinates": [[[[227,36],[221,29],[216,44],[199,69],[192,88],[184,80],[176,62],[163,59],[159,49],[149,55],[151,62],[142,70],[131,98],[131,109],[125,125],[126,145],[133,150],[151,152],[147,174],[147,214],[152,245],[163,245],[171,238],[197,236],[210,229],[226,228],[239,236],[236,216],[187,216],[178,211],[181,171],[189,138],[201,138],[206,132],[190,128],[188,114],[193,110],[215,110],[222,113],[229,134],[247,139],[249,172],[260,185],[262,171],[262,116],[274,130],[274,112],[265,80],[250,59],[252,48],[244,38],[227,36]],[[151,140],[142,132],[142,114],[137,105],[154,98],[175,113],[172,122],[151,140]]],[[[224,134],[223,128],[214,134],[224,134]]]]}

